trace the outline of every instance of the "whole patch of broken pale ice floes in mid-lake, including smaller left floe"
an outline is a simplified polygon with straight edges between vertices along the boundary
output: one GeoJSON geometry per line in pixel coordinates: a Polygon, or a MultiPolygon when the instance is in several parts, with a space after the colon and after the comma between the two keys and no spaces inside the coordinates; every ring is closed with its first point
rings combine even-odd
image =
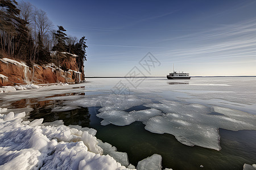
{"type": "MultiPolygon", "coordinates": [[[[229,108],[210,108],[200,104],[160,100],[160,103],[144,104],[151,109],[125,112],[123,110],[127,105],[110,103],[102,104],[104,108],[97,114],[97,117],[103,119],[101,125],[125,126],[141,121],[146,125],[146,130],[172,134],[177,141],[188,146],[220,150],[219,128],[256,130],[255,115],[229,108]]],[[[133,104],[129,107],[131,105],[133,104]]]]}

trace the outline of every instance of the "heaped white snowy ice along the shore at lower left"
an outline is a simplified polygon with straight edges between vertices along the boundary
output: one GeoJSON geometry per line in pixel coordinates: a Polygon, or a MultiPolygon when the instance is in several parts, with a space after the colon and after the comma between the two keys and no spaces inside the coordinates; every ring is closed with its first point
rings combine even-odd
{"type": "Polygon", "coordinates": [[[23,124],[24,116],[24,112],[0,114],[0,169],[126,169],[102,155],[96,137],[90,134],[95,131],[70,128],[62,121],[23,124]]]}

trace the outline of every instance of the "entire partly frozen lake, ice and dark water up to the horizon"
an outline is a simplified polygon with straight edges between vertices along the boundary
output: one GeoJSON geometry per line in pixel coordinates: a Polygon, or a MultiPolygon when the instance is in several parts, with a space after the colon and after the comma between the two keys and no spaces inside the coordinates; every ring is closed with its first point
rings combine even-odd
{"type": "Polygon", "coordinates": [[[28,121],[96,129],[135,166],[152,154],[162,155],[163,169],[256,163],[256,77],[88,78],[0,94],[0,101],[28,121]]]}

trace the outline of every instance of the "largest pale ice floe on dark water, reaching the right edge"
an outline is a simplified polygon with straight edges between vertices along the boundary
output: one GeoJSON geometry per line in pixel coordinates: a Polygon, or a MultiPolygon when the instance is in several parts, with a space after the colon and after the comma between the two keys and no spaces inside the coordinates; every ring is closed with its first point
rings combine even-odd
{"type": "Polygon", "coordinates": [[[188,146],[201,146],[220,150],[218,128],[228,130],[256,130],[256,116],[222,107],[205,107],[200,104],[182,104],[175,101],[160,101],[162,104],[147,104],[146,107],[162,110],[164,116],[156,116],[144,122],[145,129],[152,133],[168,133],[188,146]],[[220,115],[209,114],[211,112],[220,115]]]}

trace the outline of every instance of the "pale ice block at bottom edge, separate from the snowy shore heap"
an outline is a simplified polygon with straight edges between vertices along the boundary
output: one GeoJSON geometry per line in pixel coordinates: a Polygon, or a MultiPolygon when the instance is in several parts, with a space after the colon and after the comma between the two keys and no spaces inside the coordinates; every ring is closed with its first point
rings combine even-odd
{"type": "Polygon", "coordinates": [[[162,156],[154,154],[138,162],[137,170],[161,170],[162,156]]]}

